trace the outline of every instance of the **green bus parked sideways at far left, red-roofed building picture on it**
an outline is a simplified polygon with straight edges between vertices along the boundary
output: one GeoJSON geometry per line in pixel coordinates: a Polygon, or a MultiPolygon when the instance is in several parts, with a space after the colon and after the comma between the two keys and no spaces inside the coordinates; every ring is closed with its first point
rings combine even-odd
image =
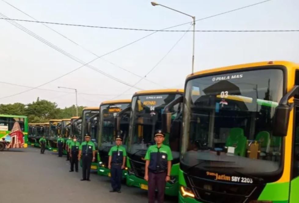
{"type": "Polygon", "coordinates": [[[26,148],[27,145],[27,116],[0,114],[0,151],[10,148],[26,148]]]}

